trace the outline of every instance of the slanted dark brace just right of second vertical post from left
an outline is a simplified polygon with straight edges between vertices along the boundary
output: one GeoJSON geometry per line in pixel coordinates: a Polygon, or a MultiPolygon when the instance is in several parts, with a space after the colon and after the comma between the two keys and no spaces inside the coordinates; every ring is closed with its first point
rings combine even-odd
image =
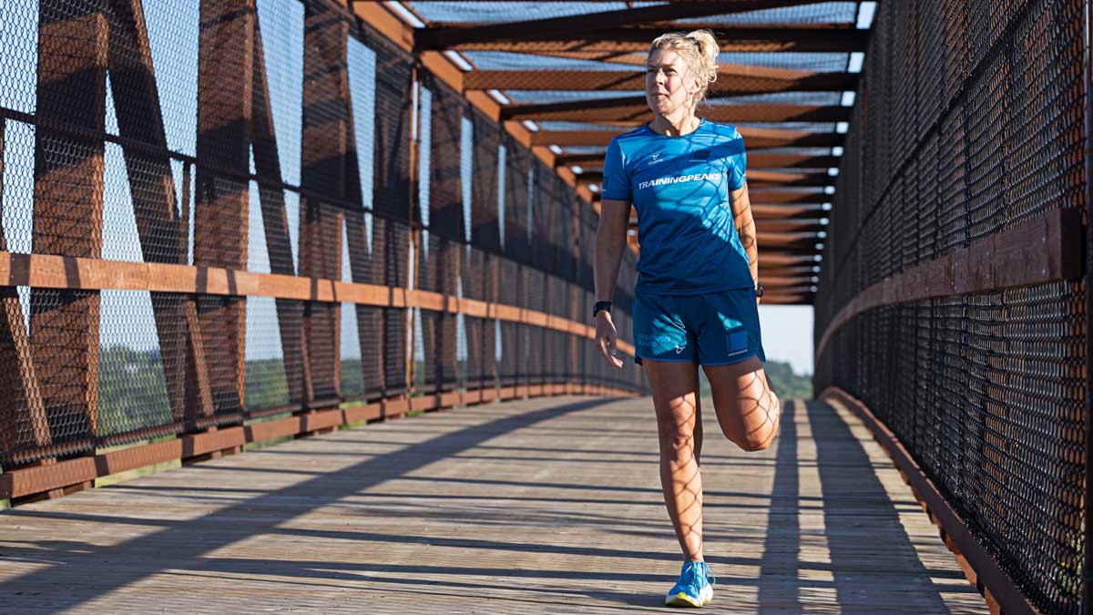
{"type": "MultiPolygon", "coordinates": [[[[278,154],[273,106],[270,100],[269,78],[266,73],[266,53],[261,28],[255,22],[254,85],[251,91],[250,142],[255,158],[255,172],[261,182],[280,184],[281,161],[278,154]]],[[[324,187],[325,188],[325,187],[324,187]]],[[[266,233],[266,252],[270,271],[285,276],[296,275],[292,260],[292,240],[289,234],[289,214],[285,211],[284,192],[265,188],[259,183],[258,199],[262,210],[262,230],[266,233]]],[[[304,382],[310,373],[307,352],[304,350],[304,318],[295,302],[277,300],[278,327],[289,401],[305,401],[304,382]]]]}

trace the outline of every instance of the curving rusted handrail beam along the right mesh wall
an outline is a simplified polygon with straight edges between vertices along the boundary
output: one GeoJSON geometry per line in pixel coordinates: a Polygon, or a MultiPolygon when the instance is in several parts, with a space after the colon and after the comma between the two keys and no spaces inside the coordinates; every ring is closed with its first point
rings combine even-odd
{"type": "Polygon", "coordinates": [[[1081,211],[1077,208],[1057,209],[984,237],[859,292],[831,320],[816,345],[816,359],[843,325],[867,310],[935,297],[1077,280],[1083,274],[1082,254],[1081,211]]]}

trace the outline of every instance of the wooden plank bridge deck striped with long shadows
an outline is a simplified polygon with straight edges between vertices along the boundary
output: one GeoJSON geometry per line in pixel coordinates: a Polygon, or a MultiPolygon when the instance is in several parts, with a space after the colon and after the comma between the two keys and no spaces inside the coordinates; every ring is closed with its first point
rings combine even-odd
{"type": "MultiPolygon", "coordinates": [[[[986,613],[853,416],[703,454],[725,613],[986,613]]],[[[553,397],[297,440],[0,513],[3,613],[661,611],[680,557],[646,399],[553,397]]]]}

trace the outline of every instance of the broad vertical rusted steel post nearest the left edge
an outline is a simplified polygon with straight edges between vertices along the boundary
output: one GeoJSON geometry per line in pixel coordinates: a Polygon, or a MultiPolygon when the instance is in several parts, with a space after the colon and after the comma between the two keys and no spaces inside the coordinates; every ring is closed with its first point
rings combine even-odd
{"type": "MultiPolygon", "coordinates": [[[[36,116],[45,126],[104,131],[105,8],[105,0],[39,7],[36,116]]],[[[101,139],[72,138],[44,126],[35,131],[34,252],[98,258],[103,153],[101,139]]],[[[95,436],[98,324],[98,292],[32,289],[31,355],[55,443],[90,442],[95,436]]]]}

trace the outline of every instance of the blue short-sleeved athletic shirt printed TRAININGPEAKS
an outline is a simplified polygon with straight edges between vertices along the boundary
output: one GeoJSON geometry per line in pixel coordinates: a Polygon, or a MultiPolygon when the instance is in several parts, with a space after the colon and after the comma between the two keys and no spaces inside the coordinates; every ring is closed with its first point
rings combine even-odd
{"type": "Polygon", "coordinates": [[[701,119],[680,137],[646,125],[611,139],[602,196],[637,210],[635,292],[705,294],[754,285],[730,198],[743,187],[745,169],[743,138],[727,124],[701,119]]]}

